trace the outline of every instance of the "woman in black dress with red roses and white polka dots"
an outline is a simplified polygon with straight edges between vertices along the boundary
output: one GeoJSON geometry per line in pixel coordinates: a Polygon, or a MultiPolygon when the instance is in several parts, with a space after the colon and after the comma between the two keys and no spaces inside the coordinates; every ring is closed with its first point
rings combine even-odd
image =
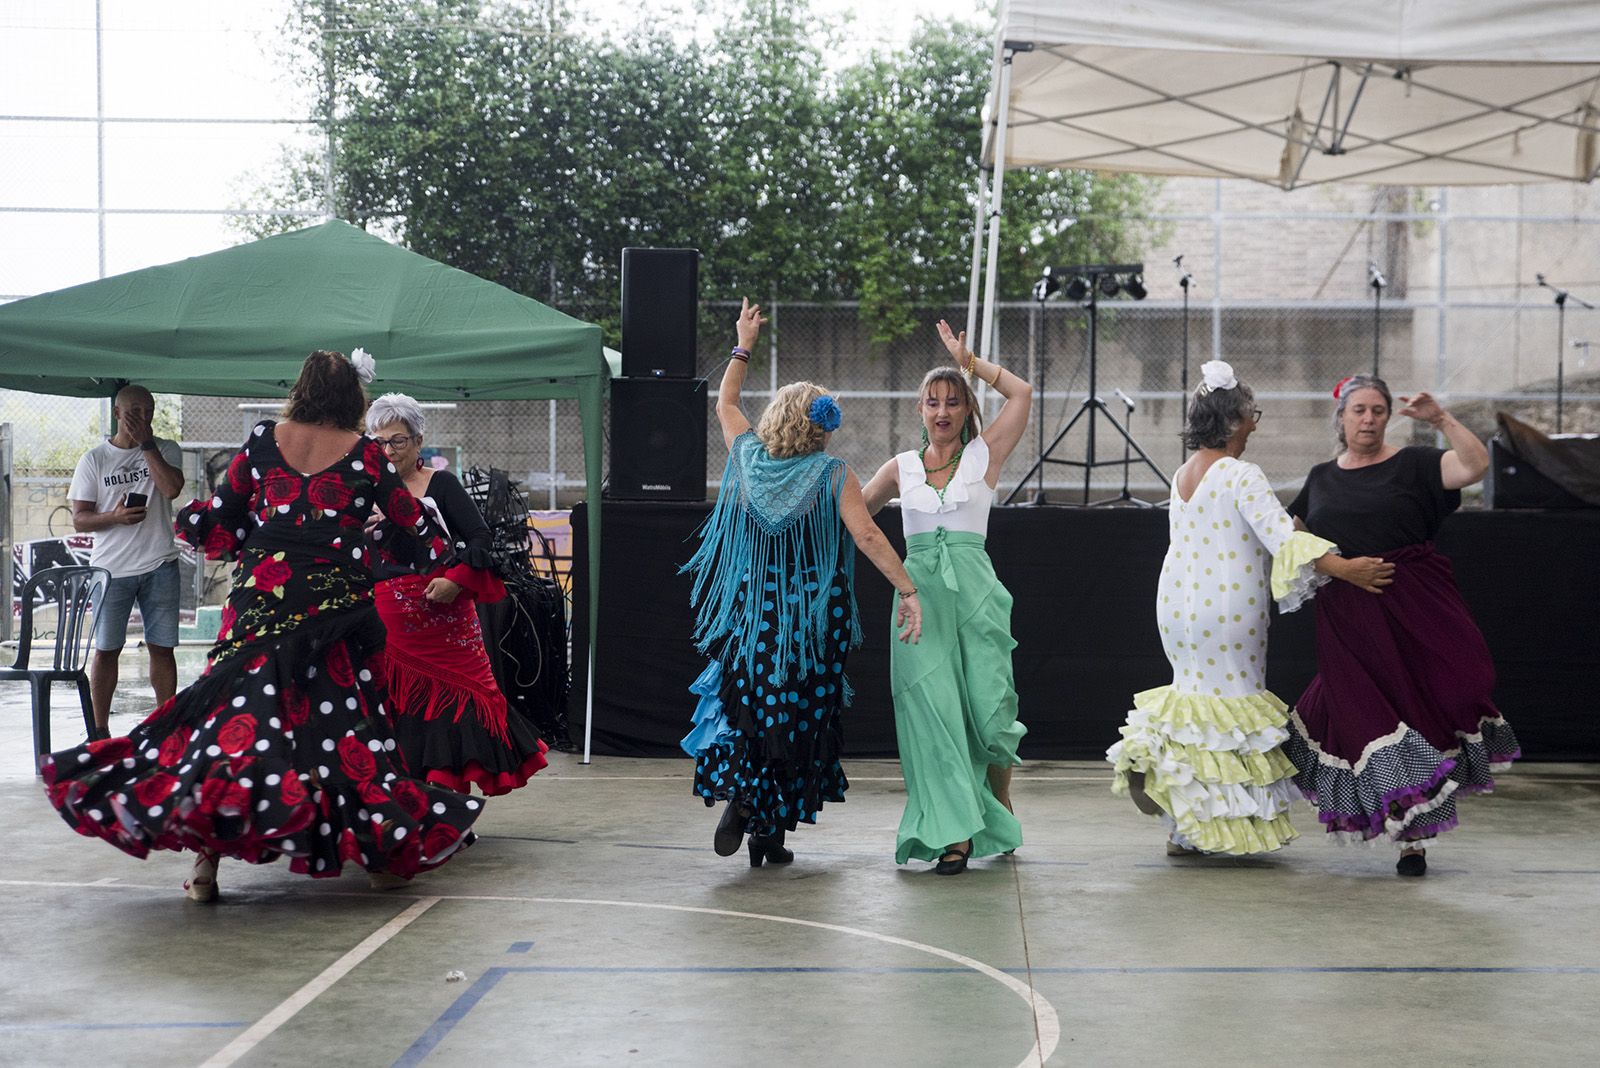
{"type": "Polygon", "coordinates": [[[413,779],[384,718],[363,521],[374,505],[397,526],[421,512],[355,432],[370,369],[360,350],[312,353],[286,419],[256,425],[214,496],[179,513],[179,537],[238,561],[205,673],[128,737],[43,759],[80,835],[134,857],[195,851],[195,900],[216,897],[219,855],[288,855],[317,878],[350,862],[394,886],[474,838],[483,803],[413,779]]]}

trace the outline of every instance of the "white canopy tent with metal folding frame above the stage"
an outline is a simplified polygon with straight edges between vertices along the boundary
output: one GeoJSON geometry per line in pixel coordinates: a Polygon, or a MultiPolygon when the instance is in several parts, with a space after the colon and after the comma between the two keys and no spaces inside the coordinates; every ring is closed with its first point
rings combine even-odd
{"type": "Polygon", "coordinates": [[[994,349],[1008,166],[1323,182],[1590,182],[1595,0],[1003,0],[968,334],[994,349]],[[1002,106],[1003,104],[1003,106],[1002,106]],[[992,177],[990,177],[992,176],[992,177]]]}

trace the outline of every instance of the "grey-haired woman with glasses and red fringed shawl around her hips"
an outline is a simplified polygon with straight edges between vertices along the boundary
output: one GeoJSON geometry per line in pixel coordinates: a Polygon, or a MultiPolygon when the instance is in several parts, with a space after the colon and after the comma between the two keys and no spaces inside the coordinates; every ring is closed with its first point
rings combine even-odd
{"type": "Polygon", "coordinates": [[[387,523],[371,531],[374,600],[389,632],[389,718],[400,756],[430,783],[509,793],[544,767],[546,745],[506,707],[483,649],[477,603],[506,596],[490,569],[490,528],[454,475],[422,464],[426,424],[414,400],[379,397],[366,411],[366,428],[422,505],[419,563],[384,547],[387,523]]]}

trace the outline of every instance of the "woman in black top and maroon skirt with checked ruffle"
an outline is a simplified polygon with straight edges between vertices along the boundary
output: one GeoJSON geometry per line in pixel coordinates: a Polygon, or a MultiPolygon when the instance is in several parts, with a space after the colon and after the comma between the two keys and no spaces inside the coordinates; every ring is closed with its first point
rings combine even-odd
{"type": "Polygon", "coordinates": [[[1395,870],[1418,876],[1424,846],[1456,825],[1456,795],[1488,793],[1491,772],[1522,756],[1490,700],[1488,646],[1434,550],[1490,457],[1427,393],[1402,397],[1400,414],[1437,428],[1450,451],[1384,443],[1394,401],[1376,376],[1349,377],[1334,397],[1342,451],[1310,470],[1290,513],[1346,556],[1395,564],[1394,584],[1322,590],[1317,678],[1290,713],[1283,751],[1330,833],[1387,838],[1402,851],[1395,870]]]}

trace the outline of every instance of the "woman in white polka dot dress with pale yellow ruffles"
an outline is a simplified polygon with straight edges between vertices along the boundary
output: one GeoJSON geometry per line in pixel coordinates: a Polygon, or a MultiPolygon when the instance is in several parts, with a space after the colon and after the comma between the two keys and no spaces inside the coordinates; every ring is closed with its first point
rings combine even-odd
{"type": "Polygon", "coordinates": [[[1376,590],[1394,568],[1294,531],[1261,468],[1240,459],[1261,417],[1254,395],[1221,360],[1202,374],[1155,604],[1173,683],[1134,695],[1106,756],[1112,790],[1162,817],[1168,854],[1270,852],[1296,836],[1296,790],[1280,750],[1288,708],[1264,681],[1269,596],[1291,612],[1331,577],[1376,590]]]}

